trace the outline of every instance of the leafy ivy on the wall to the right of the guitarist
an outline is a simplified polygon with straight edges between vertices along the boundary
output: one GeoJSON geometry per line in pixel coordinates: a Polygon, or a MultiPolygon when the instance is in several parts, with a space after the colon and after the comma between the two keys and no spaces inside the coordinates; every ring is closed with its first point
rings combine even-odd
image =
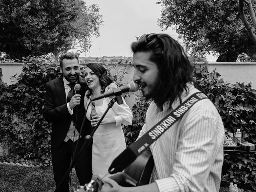
{"type": "MultiPolygon", "coordinates": [[[[224,127],[228,132],[242,130],[242,137],[256,144],[256,90],[251,84],[225,83],[220,74],[207,66],[195,66],[197,82],[204,88],[206,95],[216,106],[224,127]]],[[[223,182],[234,182],[249,192],[256,190],[256,167],[253,167],[256,155],[224,154],[224,166],[228,170],[222,175],[223,182]]]]}

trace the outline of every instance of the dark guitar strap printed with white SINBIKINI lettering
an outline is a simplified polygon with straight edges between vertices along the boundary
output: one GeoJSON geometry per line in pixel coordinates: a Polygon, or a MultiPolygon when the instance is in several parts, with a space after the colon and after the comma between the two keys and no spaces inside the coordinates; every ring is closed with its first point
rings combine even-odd
{"type": "Polygon", "coordinates": [[[122,171],[124,168],[129,166],[140,154],[142,154],[142,152],[147,150],[153,142],[164,134],[166,130],[180,120],[196,102],[206,98],[208,97],[202,92],[192,94],[172,112],[160,120],[160,122],[148,130],[136,142],[126,148],[126,150],[124,150],[116,159],[114,159],[108,171],[113,174],[118,171],[122,171]]]}

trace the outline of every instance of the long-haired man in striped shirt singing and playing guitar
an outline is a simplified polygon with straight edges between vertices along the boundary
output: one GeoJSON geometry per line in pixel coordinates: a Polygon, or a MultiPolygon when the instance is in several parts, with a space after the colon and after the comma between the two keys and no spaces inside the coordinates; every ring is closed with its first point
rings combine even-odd
{"type": "MultiPolygon", "coordinates": [[[[201,88],[180,44],[167,34],[147,34],[132,43],[133,80],[152,102],[140,136],[201,88]]],[[[202,91],[202,90],[201,90],[202,91]]],[[[139,136],[139,137],[140,137],[139,136]]],[[[101,192],[218,192],[224,127],[209,99],[196,102],[151,146],[151,183],[122,187],[104,178],[101,192]]]]}

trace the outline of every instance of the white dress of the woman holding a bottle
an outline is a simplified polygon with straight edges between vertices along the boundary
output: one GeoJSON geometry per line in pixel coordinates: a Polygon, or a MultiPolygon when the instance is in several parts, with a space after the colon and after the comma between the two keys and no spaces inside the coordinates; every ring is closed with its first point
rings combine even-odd
{"type": "MultiPolygon", "coordinates": [[[[90,103],[90,98],[84,99],[85,107],[90,103]]],[[[104,98],[102,106],[96,106],[96,112],[102,116],[108,108],[110,98],[104,98]]],[[[106,114],[106,118],[114,117],[116,123],[103,124],[98,127],[93,136],[92,143],[92,173],[105,175],[112,161],[126,149],[122,124],[132,124],[132,112],[123,99],[123,104],[114,103],[106,114]]],[[[86,117],[90,120],[91,104],[86,111],[86,117]]],[[[122,162],[120,162],[122,163],[122,162]]],[[[109,175],[110,176],[110,175],[109,175]]]]}

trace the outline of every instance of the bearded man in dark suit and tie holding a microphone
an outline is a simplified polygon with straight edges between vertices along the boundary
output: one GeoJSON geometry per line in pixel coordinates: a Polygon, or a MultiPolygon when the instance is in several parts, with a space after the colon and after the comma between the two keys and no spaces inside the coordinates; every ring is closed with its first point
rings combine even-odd
{"type": "MultiPolygon", "coordinates": [[[[72,160],[74,146],[78,143],[79,152],[84,143],[84,136],[92,132],[90,121],[86,119],[79,138],[84,119],[84,94],[88,89],[84,76],[80,75],[78,56],[65,53],[60,57],[62,76],[46,83],[44,118],[52,122],[52,167],[58,191],[69,192],[68,180],[60,184],[72,160]],[[75,94],[74,85],[80,84],[80,94],[75,94]]],[[[78,153],[76,154],[76,156],[78,153]]],[[[84,150],[75,165],[76,175],[81,185],[92,177],[92,149],[84,150]]]]}

